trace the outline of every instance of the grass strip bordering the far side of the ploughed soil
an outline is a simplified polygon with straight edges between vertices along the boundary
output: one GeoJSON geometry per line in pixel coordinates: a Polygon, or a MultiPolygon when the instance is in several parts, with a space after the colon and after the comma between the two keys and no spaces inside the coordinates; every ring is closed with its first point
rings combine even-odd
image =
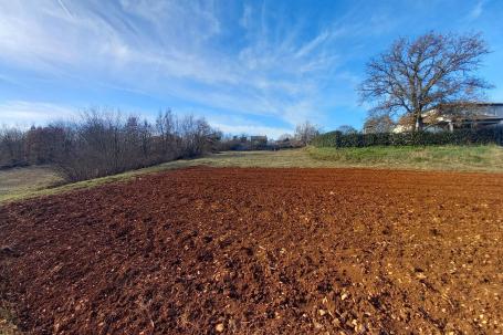
{"type": "Polygon", "coordinates": [[[54,195],[135,176],[190,166],[211,167],[366,167],[421,170],[503,172],[503,148],[497,146],[315,148],[280,151],[228,151],[54,187],[61,178],[50,167],[0,171],[0,203],[54,195]]]}

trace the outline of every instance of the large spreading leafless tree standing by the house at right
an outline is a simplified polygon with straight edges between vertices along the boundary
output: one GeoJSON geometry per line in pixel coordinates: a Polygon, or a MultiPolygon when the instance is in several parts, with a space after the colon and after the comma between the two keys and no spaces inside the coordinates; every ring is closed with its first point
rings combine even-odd
{"type": "Polygon", "coordinates": [[[491,85],[476,75],[489,48],[481,34],[430,32],[416,40],[398,39],[371,59],[358,87],[371,115],[406,115],[412,130],[423,129],[423,113],[453,104],[472,104],[491,85]]]}

